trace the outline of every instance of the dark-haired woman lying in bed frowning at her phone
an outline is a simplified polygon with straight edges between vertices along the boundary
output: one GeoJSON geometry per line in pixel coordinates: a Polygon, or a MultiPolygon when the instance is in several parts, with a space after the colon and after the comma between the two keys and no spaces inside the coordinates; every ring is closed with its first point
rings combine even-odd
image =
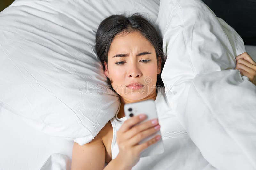
{"type": "MultiPolygon", "coordinates": [[[[131,169],[137,166],[139,160],[142,160],[139,157],[140,152],[150,145],[154,145],[161,137],[155,136],[145,143],[138,144],[142,139],[159,131],[160,117],[159,122],[158,119],[148,120],[143,124],[136,125],[145,119],[145,115],[140,114],[127,120],[123,107],[126,103],[148,99],[158,101],[157,107],[162,107],[160,104],[164,102],[159,102],[160,96],[164,96],[159,92],[163,90],[164,93],[161,80],[161,72],[164,66],[162,39],[154,26],[139,14],[133,14],[130,17],[112,15],[100,23],[96,33],[95,48],[112,90],[120,95],[121,105],[116,116],[105,125],[90,143],[83,146],[74,143],[71,169],[103,169],[105,162],[108,163],[105,169],[131,169]],[[119,124],[118,121],[120,121],[119,124]]],[[[243,53],[237,56],[236,59],[236,68],[256,85],[256,64],[252,58],[247,53],[243,53]]],[[[168,152],[166,154],[175,153],[176,155],[172,159],[178,162],[175,158],[178,157],[179,152],[193,152],[193,154],[197,154],[196,159],[192,160],[194,164],[196,165],[199,159],[201,161],[200,165],[198,164],[194,168],[200,169],[203,166],[211,166],[204,160],[188,135],[184,136],[182,141],[173,140],[165,143],[165,152],[168,152]],[[185,142],[179,145],[183,141],[185,142]],[[175,142],[177,145],[173,147],[180,149],[177,152],[168,150],[167,144],[174,144],[175,142]],[[189,149],[193,147],[193,149],[189,150],[185,146],[189,146],[189,149]]],[[[150,160],[158,157],[159,161],[164,158],[155,156],[151,159],[145,158],[145,160],[148,161],[147,164],[150,167],[153,167],[154,164],[150,160]]],[[[167,156],[165,155],[165,157],[167,156]]],[[[187,160],[191,160],[189,156],[187,157],[187,160]]],[[[185,168],[185,163],[182,164],[179,167],[185,168]]],[[[147,166],[148,169],[149,166],[147,166]]],[[[138,169],[145,167],[137,166],[138,169]]],[[[177,166],[166,165],[165,167],[166,169],[167,167],[178,169],[177,166]]]]}

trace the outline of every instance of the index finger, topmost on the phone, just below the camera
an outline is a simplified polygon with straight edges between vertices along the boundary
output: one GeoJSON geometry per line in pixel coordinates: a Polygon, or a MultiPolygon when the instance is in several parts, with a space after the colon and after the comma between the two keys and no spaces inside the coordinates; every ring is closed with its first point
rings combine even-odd
{"type": "Polygon", "coordinates": [[[145,114],[140,114],[140,115],[134,116],[130,119],[127,119],[126,121],[124,121],[124,123],[122,124],[122,126],[120,127],[118,132],[124,133],[124,132],[128,131],[132,126],[143,121],[145,118],[146,118],[145,114]]]}

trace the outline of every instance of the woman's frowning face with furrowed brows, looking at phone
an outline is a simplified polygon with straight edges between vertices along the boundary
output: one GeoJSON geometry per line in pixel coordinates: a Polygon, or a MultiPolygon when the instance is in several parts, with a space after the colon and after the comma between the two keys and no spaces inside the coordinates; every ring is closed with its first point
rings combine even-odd
{"type": "Polygon", "coordinates": [[[152,95],[160,72],[161,57],[157,61],[154,46],[140,32],[115,36],[104,74],[112,80],[111,85],[120,96],[140,100],[152,95]],[[129,86],[131,83],[140,83],[141,86],[129,86]]]}

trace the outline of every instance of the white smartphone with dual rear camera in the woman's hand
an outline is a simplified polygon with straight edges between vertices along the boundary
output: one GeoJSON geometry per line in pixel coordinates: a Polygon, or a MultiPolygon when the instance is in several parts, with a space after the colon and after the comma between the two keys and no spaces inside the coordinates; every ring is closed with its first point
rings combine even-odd
{"type": "MultiPolygon", "coordinates": [[[[137,115],[142,114],[142,113],[146,114],[146,119],[143,120],[142,122],[138,123],[138,124],[142,124],[142,123],[144,123],[148,120],[158,118],[157,117],[157,112],[156,112],[155,102],[152,99],[141,101],[141,102],[125,104],[124,105],[124,113],[125,113],[127,119],[132,118],[132,117],[137,116],[137,115]]],[[[136,124],[136,125],[138,125],[138,124],[136,124]]],[[[139,144],[144,143],[144,142],[152,139],[156,135],[161,135],[161,129],[159,131],[156,131],[156,133],[142,139],[139,142],[139,144]]],[[[164,143],[163,143],[162,138],[160,138],[159,141],[157,141],[153,145],[150,145],[148,148],[144,149],[140,153],[140,157],[157,155],[157,154],[161,154],[163,152],[164,152],[164,143]]]]}

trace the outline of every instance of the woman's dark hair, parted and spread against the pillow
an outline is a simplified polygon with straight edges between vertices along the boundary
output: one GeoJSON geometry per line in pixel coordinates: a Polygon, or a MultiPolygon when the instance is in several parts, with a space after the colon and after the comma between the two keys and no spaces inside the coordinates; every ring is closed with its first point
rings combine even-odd
{"type": "MultiPolygon", "coordinates": [[[[124,14],[111,15],[100,23],[96,33],[95,50],[103,65],[103,70],[105,69],[104,61],[108,63],[108,51],[114,37],[117,34],[129,33],[132,31],[139,31],[146,39],[148,39],[155,48],[157,59],[158,56],[161,57],[161,73],[157,76],[156,86],[164,86],[161,78],[165,63],[162,48],[163,40],[160,34],[156,31],[156,28],[139,13],[134,13],[130,17],[126,17],[124,14]]],[[[109,79],[108,84],[111,86],[111,81],[109,79]]],[[[115,91],[112,86],[111,89],[115,91]]]]}

